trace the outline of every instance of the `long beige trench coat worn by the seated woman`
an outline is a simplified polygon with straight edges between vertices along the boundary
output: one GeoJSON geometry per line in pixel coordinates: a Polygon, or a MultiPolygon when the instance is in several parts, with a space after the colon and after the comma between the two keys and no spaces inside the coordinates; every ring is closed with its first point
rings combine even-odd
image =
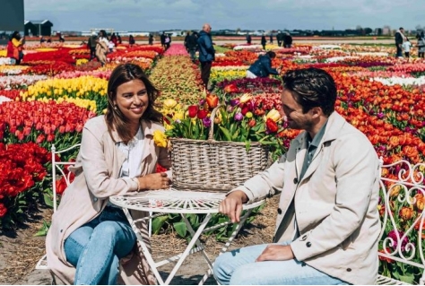
{"type": "MultiPolygon", "coordinates": [[[[155,130],[163,130],[163,127],[143,120],[142,128],[144,147],[141,175],[155,172],[157,162],[165,168],[170,168],[167,150],[158,147],[152,137],[155,130]]],[[[113,133],[113,137],[117,142],[121,141],[116,132],[113,133]]],[[[137,190],[137,183],[131,178],[118,178],[124,160],[126,155],[118,151],[116,143],[108,134],[104,117],[91,118],[82,130],[81,149],[72,169],[75,174],[74,182],[65,190],[46,238],[48,266],[62,282],[71,284],[75,276],[74,266],[66,262],[65,238],[98,216],[107,205],[110,195],[125,195],[127,192],[137,190]]],[[[135,218],[145,216],[142,212],[132,214],[135,218]]],[[[142,227],[145,234],[143,238],[149,243],[146,224],[142,227]]],[[[118,282],[156,283],[149,265],[141,254],[141,247],[137,243],[134,254],[126,257],[129,259],[121,259],[118,282]]]]}

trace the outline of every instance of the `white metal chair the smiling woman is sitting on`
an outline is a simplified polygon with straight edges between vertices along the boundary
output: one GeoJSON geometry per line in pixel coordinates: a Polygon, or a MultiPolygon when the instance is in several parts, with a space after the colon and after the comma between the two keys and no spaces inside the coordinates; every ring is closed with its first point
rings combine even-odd
{"type": "MultiPolygon", "coordinates": [[[[53,212],[56,212],[57,209],[57,197],[56,197],[56,176],[63,176],[65,178],[66,186],[70,184],[70,176],[71,173],[68,172],[65,174],[65,167],[66,166],[72,166],[75,164],[75,162],[65,162],[65,161],[56,161],[56,155],[60,155],[64,152],[69,152],[73,150],[74,148],[80,148],[80,143],[75,144],[65,150],[56,151],[55,144],[52,144],[51,152],[52,152],[52,192],[53,192],[53,212]],[[59,171],[59,173],[56,175],[56,170],[59,171]]],[[[44,255],[39,259],[39,262],[36,264],[35,269],[37,270],[48,270],[48,259],[47,256],[44,255]]],[[[55,284],[55,276],[52,274],[52,284],[55,284]]]]}

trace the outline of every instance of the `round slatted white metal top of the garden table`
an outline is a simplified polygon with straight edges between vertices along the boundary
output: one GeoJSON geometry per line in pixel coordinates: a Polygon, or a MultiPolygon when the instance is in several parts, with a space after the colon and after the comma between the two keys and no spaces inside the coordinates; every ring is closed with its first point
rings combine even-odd
{"type": "MultiPolygon", "coordinates": [[[[174,188],[132,192],[127,195],[109,197],[109,201],[117,206],[143,212],[169,213],[215,213],[219,212],[219,204],[226,193],[195,192],[174,188]]],[[[244,210],[255,208],[265,200],[252,204],[244,204],[244,210]]]]}

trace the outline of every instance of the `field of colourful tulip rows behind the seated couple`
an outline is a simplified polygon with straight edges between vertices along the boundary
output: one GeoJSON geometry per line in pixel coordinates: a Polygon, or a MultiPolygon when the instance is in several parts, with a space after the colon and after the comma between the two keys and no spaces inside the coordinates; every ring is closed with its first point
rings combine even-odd
{"type": "MultiPolygon", "coordinates": [[[[413,57],[407,62],[395,58],[395,47],[377,45],[267,45],[266,50],[276,53],[273,67],[282,67],[282,73],[314,66],[332,74],[338,88],[336,111],[368,136],[385,164],[424,161],[423,59],[413,57]]],[[[16,228],[39,206],[51,205],[52,184],[59,193],[64,191],[65,180],[50,176],[51,145],[62,150],[79,143],[84,123],[105,112],[108,77],[119,63],[141,65],[150,74],[160,90],[157,103],[166,122],[183,119],[195,106],[203,112],[196,109],[194,116],[209,116],[208,109],[202,108],[207,92],[199,65],[191,62],[181,44],[173,43],[167,51],[157,45],[118,45],[104,66],[89,61],[89,49],[78,45],[34,44],[24,52],[22,65],[8,65],[5,47],[0,47],[0,228],[16,228]]],[[[223,105],[235,106],[234,100],[242,101],[238,120],[249,116],[249,123],[251,117],[273,118],[281,107],[279,77],[245,78],[261,46],[226,44],[217,46],[216,52],[211,93],[223,105]],[[247,104],[247,99],[252,103],[247,104]]],[[[274,122],[268,121],[265,134],[275,133],[273,156],[277,158],[299,131],[284,125],[278,128],[274,122]]],[[[66,153],[61,160],[75,156],[66,153]]],[[[387,178],[396,178],[392,169],[383,172],[387,178]]],[[[392,210],[401,233],[424,208],[423,195],[418,193],[415,199],[415,204],[395,205],[392,210]]],[[[378,209],[385,212],[383,202],[378,209]]],[[[418,275],[398,269],[393,261],[381,265],[390,274],[402,273],[414,279],[418,275]]]]}

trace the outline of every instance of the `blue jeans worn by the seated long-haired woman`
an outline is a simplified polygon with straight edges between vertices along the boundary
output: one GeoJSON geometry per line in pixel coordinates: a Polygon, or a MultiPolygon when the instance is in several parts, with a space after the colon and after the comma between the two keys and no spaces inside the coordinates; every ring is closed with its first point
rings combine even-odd
{"type": "Polygon", "coordinates": [[[75,285],[117,285],[119,259],[134,247],[135,235],[118,208],[106,207],[65,239],[66,260],[76,267],[75,285]]]}

